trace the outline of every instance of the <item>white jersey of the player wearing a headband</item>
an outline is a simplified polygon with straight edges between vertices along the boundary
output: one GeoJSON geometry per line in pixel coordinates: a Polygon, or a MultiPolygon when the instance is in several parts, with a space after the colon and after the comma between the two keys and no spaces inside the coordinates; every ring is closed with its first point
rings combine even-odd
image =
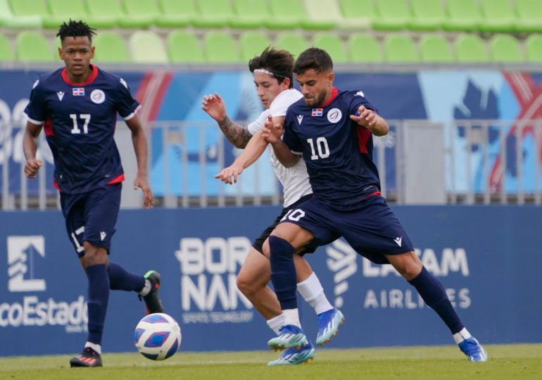
{"type": "MultiPolygon", "coordinates": [[[[303,95],[301,95],[301,92],[296,89],[282,91],[277,95],[275,100],[272,101],[269,109],[264,110],[258,119],[248,125],[248,132],[254,135],[260,131],[265,124],[267,115],[272,115],[274,118],[286,115],[288,107],[302,97],[303,95]]],[[[273,148],[270,145],[268,148],[270,150],[271,165],[273,166],[273,170],[275,170],[275,175],[277,175],[277,178],[284,187],[284,207],[296,203],[302,196],[313,194],[313,189],[308,182],[307,167],[303,157],[299,158],[296,165],[284,167],[275,156],[273,148]]]]}

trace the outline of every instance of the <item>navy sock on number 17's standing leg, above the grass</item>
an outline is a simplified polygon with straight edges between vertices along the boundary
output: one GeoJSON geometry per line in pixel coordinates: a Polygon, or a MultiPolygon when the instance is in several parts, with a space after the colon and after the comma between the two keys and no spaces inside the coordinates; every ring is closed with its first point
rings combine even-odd
{"type": "Polygon", "coordinates": [[[105,264],[87,267],[89,280],[89,337],[87,341],[101,345],[103,322],[106,320],[107,303],[109,300],[109,277],[105,264]]]}

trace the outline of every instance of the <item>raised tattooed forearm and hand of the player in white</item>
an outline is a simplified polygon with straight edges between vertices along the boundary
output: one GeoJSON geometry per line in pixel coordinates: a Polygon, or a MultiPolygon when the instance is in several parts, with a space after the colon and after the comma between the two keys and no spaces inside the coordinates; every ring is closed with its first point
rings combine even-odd
{"type": "Polygon", "coordinates": [[[252,135],[250,132],[248,132],[248,129],[241,127],[241,125],[235,124],[232,122],[232,120],[229,120],[226,113],[226,103],[217,92],[215,92],[214,95],[209,94],[203,96],[203,100],[201,101],[201,109],[208,113],[211,118],[215,119],[216,122],[218,122],[220,130],[230,143],[232,143],[236,148],[245,148],[252,135]]]}

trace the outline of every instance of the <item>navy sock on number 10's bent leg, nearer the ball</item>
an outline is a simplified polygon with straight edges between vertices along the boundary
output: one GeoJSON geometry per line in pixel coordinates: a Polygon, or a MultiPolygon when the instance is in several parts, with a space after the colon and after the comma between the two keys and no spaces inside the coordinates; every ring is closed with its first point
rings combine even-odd
{"type": "Polygon", "coordinates": [[[277,236],[269,236],[269,250],[271,262],[271,282],[280,308],[297,308],[297,279],[294,265],[294,247],[286,240],[277,236]]]}

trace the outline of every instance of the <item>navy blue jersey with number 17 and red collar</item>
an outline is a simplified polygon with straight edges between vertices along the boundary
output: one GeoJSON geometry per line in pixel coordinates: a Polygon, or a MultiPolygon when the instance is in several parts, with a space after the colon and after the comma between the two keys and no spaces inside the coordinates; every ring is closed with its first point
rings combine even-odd
{"type": "Polygon", "coordinates": [[[124,179],[113,134],[117,113],[128,120],[139,103],[124,80],[91,65],[84,84],[71,83],[65,68],[34,83],[28,120],[43,125],[53,153],[54,184],[66,194],[81,194],[124,179]]]}

